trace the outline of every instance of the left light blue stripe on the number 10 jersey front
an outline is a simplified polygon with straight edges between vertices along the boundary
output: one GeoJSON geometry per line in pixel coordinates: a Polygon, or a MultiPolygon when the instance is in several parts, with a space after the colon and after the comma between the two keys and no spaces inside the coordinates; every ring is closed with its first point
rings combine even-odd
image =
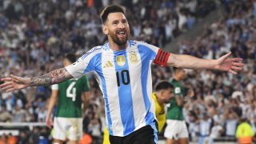
{"type": "MultiPolygon", "coordinates": [[[[101,78],[102,80],[102,93],[103,93],[103,97],[104,97],[104,100],[106,102],[105,104],[105,107],[106,107],[106,118],[107,118],[107,127],[109,129],[109,133],[111,135],[113,135],[113,131],[110,129],[110,127],[112,127],[112,120],[111,120],[111,117],[110,117],[110,106],[109,106],[109,102],[108,102],[108,96],[107,96],[107,93],[106,93],[106,81],[105,81],[105,78],[104,78],[104,75],[102,73],[102,53],[100,54],[96,54],[93,58],[91,58],[88,66],[97,66],[94,68],[94,70],[97,72],[97,74],[99,75],[99,77],[101,78]]],[[[87,68],[88,68],[87,66],[87,68]]],[[[85,71],[88,71],[86,68],[85,71]]]]}

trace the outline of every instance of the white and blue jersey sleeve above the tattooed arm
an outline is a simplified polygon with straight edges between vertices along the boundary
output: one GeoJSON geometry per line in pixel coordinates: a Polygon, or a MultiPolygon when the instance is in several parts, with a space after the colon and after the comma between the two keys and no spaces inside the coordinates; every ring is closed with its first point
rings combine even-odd
{"type": "Polygon", "coordinates": [[[101,51],[101,46],[94,47],[82,57],[78,58],[77,62],[66,66],[66,70],[74,77],[81,78],[82,75],[95,70],[94,58],[101,51]]]}

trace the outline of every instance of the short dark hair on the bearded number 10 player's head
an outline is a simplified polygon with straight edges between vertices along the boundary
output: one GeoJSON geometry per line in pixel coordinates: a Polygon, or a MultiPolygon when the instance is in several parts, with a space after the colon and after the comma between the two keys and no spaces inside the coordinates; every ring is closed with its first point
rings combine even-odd
{"type": "Polygon", "coordinates": [[[104,10],[102,10],[101,13],[101,18],[102,18],[102,23],[106,22],[107,16],[110,13],[122,13],[122,14],[126,14],[126,8],[124,6],[120,6],[120,5],[110,5],[107,6],[104,10]]]}

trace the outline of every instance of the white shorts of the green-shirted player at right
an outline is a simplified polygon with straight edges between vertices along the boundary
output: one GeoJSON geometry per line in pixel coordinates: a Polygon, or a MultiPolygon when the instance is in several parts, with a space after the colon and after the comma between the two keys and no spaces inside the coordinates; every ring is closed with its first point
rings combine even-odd
{"type": "Polygon", "coordinates": [[[164,136],[169,139],[178,140],[178,138],[189,138],[185,121],[170,120],[166,121],[166,130],[164,136]]]}

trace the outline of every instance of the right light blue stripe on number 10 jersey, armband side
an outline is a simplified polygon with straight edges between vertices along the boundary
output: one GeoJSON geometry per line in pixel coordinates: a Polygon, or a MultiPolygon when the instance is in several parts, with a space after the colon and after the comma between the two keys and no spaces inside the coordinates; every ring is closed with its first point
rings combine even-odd
{"type": "MultiPolygon", "coordinates": [[[[144,99],[145,108],[147,112],[145,122],[146,122],[146,125],[149,125],[151,122],[154,121],[154,114],[150,112],[151,104],[150,104],[149,95],[147,94],[147,79],[148,79],[148,72],[150,67],[150,60],[154,58],[155,53],[153,50],[143,45],[139,45],[138,53],[140,54],[141,61],[142,61],[142,73],[141,73],[142,94],[143,94],[143,99],[144,99]]],[[[151,83],[149,83],[149,85],[151,85],[151,83]]]]}

